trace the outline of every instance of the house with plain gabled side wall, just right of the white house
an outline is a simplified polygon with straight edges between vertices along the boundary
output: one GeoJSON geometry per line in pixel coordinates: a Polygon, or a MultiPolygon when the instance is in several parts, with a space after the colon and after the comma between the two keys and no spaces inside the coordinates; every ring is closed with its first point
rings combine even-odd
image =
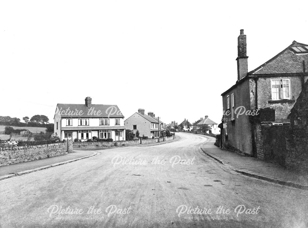
{"type": "Polygon", "coordinates": [[[163,124],[162,121],[158,122],[153,112],[144,114],[144,109],[138,109],[138,112],[124,120],[125,129],[132,130],[135,135],[138,130],[139,136],[144,135],[148,138],[157,138],[162,135],[165,131],[163,124]]]}

